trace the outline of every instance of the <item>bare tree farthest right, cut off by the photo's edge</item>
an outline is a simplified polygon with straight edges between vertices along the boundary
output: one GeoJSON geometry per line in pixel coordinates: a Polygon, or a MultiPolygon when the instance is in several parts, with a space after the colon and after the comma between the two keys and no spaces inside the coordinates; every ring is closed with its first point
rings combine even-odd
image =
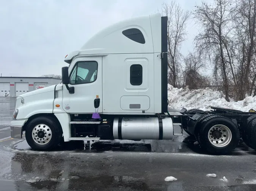
{"type": "Polygon", "coordinates": [[[236,39],[237,84],[239,100],[248,95],[255,95],[255,18],[256,0],[236,0],[232,11],[236,39]]]}

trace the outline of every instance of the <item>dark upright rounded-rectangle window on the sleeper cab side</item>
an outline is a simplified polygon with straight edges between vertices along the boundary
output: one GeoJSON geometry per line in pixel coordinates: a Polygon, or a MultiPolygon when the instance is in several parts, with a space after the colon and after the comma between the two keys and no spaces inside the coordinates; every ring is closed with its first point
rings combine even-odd
{"type": "Polygon", "coordinates": [[[140,64],[130,66],[130,83],[133,86],[142,84],[142,66],[140,64]]]}

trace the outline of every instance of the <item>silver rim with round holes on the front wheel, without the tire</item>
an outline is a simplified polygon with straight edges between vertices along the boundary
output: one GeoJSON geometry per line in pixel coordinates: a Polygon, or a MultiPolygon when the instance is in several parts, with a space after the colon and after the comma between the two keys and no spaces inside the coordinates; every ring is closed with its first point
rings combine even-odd
{"type": "Polygon", "coordinates": [[[48,125],[38,124],[32,130],[32,138],[39,145],[45,145],[52,139],[52,130],[48,125]]]}

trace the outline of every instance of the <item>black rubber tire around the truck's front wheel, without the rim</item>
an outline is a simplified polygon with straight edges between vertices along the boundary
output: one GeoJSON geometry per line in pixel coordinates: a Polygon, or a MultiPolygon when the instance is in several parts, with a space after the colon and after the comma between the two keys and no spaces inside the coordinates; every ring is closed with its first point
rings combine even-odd
{"type": "Polygon", "coordinates": [[[32,119],[28,123],[25,133],[26,133],[25,136],[26,136],[28,145],[33,150],[37,150],[37,151],[50,151],[50,150],[54,149],[60,143],[61,135],[62,135],[61,128],[59,127],[59,124],[56,122],[56,120],[53,119],[52,117],[45,117],[45,116],[36,117],[35,119],[32,119]],[[33,129],[35,128],[35,126],[37,126],[39,124],[45,124],[45,125],[49,126],[52,131],[52,138],[50,139],[50,141],[48,143],[46,143],[44,145],[40,145],[40,144],[36,143],[32,137],[33,129]]]}

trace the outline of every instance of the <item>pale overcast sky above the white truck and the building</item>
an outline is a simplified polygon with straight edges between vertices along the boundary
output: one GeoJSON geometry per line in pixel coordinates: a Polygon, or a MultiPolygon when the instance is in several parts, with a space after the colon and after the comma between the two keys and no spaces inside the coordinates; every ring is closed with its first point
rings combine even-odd
{"type": "MultiPolygon", "coordinates": [[[[170,2],[168,0],[163,2],[170,2]]],[[[159,0],[0,0],[0,73],[2,76],[61,74],[63,59],[93,34],[126,18],[161,8],[159,0]]],[[[177,0],[192,10],[201,0],[177,0]]],[[[188,25],[186,54],[197,33],[188,25]]]]}

